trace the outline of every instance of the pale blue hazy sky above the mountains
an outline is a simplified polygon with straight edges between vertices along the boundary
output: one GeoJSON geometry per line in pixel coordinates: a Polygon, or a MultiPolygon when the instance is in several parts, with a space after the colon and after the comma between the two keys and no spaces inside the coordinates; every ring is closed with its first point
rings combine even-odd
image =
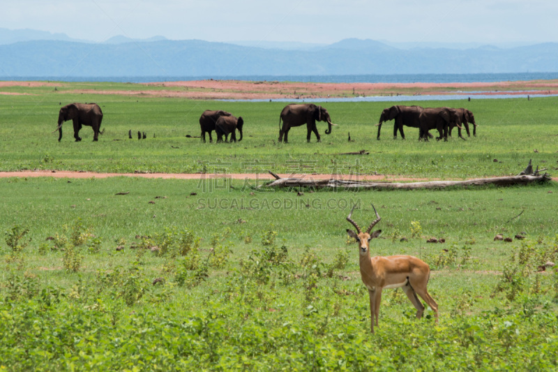
{"type": "Polygon", "coordinates": [[[220,42],[558,42],[556,0],[17,0],[1,8],[0,27],[98,42],[116,35],[220,42]]]}

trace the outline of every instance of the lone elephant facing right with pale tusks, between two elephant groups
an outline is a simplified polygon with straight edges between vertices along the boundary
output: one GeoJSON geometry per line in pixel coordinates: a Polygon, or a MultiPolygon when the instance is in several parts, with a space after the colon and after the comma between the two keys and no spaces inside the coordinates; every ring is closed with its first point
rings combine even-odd
{"type": "Polygon", "coordinates": [[[331,123],[329,112],[327,112],[327,110],[322,106],[317,106],[313,103],[291,103],[290,105],[286,105],[281,111],[281,115],[279,117],[279,142],[282,142],[283,135],[285,135],[285,143],[287,143],[290,129],[293,126],[301,126],[303,124],[306,124],[306,128],[308,129],[306,140],[310,142],[310,135],[313,131],[317,137],[317,142],[320,142],[319,133],[316,128],[316,121],[326,121],[328,124],[326,134],[331,133],[331,126],[336,125],[331,123]],[[282,128],[281,120],[283,121],[282,128]]]}

